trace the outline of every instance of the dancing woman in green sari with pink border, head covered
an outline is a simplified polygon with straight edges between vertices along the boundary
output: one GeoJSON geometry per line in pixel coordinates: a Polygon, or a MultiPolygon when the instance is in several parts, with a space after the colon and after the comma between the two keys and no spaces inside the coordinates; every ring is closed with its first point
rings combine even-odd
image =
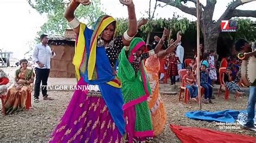
{"type": "MultiPolygon", "coordinates": [[[[169,31],[165,29],[163,37],[169,31]]],[[[165,38],[163,38],[165,39],[165,38]]],[[[154,133],[147,98],[151,95],[149,80],[143,60],[157,54],[164,44],[160,40],[157,47],[144,53],[146,44],[142,38],[133,38],[129,52],[125,48],[119,55],[118,77],[122,81],[124,115],[129,142],[151,141],[154,133]]]]}

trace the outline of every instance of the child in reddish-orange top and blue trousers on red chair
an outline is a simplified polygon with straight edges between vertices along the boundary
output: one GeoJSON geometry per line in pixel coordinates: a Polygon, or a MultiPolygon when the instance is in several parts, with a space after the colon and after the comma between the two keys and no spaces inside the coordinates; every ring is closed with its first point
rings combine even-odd
{"type": "Polygon", "coordinates": [[[197,85],[195,84],[196,79],[194,78],[193,74],[192,74],[192,68],[191,67],[187,67],[187,74],[183,77],[182,81],[183,81],[183,86],[186,87],[188,89],[188,91],[190,92],[190,97],[193,101],[197,102],[197,85]]]}

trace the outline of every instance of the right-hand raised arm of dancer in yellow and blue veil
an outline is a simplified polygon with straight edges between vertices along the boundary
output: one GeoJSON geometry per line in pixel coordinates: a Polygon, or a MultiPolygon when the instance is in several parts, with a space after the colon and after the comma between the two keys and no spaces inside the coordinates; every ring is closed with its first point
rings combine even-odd
{"type": "MultiPolygon", "coordinates": [[[[126,5],[127,9],[128,9],[129,27],[128,27],[128,30],[125,31],[125,33],[122,35],[122,40],[123,40],[124,45],[129,47],[132,38],[138,32],[135,8],[134,8],[134,4],[133,4],[132,0],[119,0],[119,1],[120,1],[120,3],[126,5]]],[[[126,51],[129,51],[129,49],[126,51]]]]}

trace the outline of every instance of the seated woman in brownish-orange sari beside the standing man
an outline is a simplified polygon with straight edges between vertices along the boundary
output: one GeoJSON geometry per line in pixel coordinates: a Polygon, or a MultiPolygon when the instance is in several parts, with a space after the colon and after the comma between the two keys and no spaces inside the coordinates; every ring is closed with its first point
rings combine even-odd
{"type": "Polygon", "coordinates": [[[28,60],[22,59],[19,65],[21,68],[15,71],[14,86],[8,90],[4,101],[6,115],[25,108],[26,97],[31,90],[30,84],[33,83],[33,71],[27,69],[28,60]]]}

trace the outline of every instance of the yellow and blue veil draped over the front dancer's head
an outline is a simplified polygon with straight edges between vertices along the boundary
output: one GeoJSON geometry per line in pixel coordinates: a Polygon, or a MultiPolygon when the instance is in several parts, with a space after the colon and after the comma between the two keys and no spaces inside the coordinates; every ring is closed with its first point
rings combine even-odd
{"type": "Polygon", "coordinates": [[[97,47],[98,36],[112,22],[116,22],[113,17],[100,16],[94,31],[80,23],[73,65],[75,66],[77,81],[83,77],[86,83],[99,85],[107,108],[109,108],[119,132],[123,135],[125,133],[125,121],[122,110],[124,101],[120,90],[121,83],[117,76],[112,75],[113,71],[105,47],[97,47]]]}

